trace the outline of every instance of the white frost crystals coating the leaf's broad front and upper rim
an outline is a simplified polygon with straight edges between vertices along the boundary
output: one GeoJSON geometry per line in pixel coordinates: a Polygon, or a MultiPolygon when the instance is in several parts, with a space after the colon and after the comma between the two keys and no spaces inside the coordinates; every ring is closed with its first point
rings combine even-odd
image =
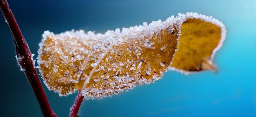
{"type": "MultiPolygon", "coordinates": [[[[84,48],[80,48],[80,51],[88,53],[89,55],[94,55],[92,52],[100,53],[100,54],[97,54],[98,56],[93,56],[90,58],[88,57],[89,59],[86,60],[86,61],[94,61],[95,63],[88,64],[89,66],[93,67],[89,76],[85,76],[85,77],[81,78],[81,80],[85,80],[84,86],[86,86],[86,84],[89,84],[89,81],[100,82],[101,81],[100,79],[105,79],[105,81],[106,81],[105,86],[111,86],[111,89],[84,88],[84,90],[82,90],[82,95],[86,99],[101,99],[103,97],[112,97],[113,94],[118,94],[118,93],[123,92],[124,90],[132,89],[132,88],[136,87],[136,85],[153,83],[154,81],[161,79],[161,76],[163,75],[162,72],[160,73],[160,76],[156,76],[156,75],[154,75],[155,74],[154,73],[154,74],[152,74],[153,78],[150,78],[148,80],[144,77],[142,77],[140,79],[135,79],[135,78],[131,77],[131,75],[128,74],[128,72],[124,76],[121,76],[121,75],[119,76],[119,73],[121,73],[119,66],[126,66],[125,67],[126,69],[134,70],[134,73],[136,73],[139,71],[139,68],[142,68],[141,67],[142,61],[140,61],[136,65],[134,64],[134,60],[125,60],[125,61],[122,61],[121,63],[111,63],[110,64],[111,67],[108,67],[107,65],[99,65],[99,63],[101,61],[108,61],[110,59],[113,59],[113,58],[111,58],[111,56],[104,58],[109,53],[111,53],[111,54],[115,53],[115,51],[112,50],[112,47],[114,45],[118,45],[122,42],[125,42],[125,39],[129,39],[129,38],[135,39],[134,37],[136,37],[136,35],[148,36],[150,38],[153,36],[154,33],[159,33],[159,32],[157,32],[157,30],[166,29],[167,27],[170,27],[170,26],[171,26],[171,28],[168,30],[169,32],[173,32],[175,29],[177,29],[177,30],[179,30],[179,33],[180,33],[180,26],[187,18],[200,18],[205,21],[213,22],[217,26],[221,26],[221,28],[222,28],[221,42],[218,45],[217,49],[214,50],[213,53],[215,53],[220,48],[220,46],[222,45],[222,42],[225,39],[225,34],[226,34],[225,26],[221,22],[219,22],[218,20],[216,20],[214,18],[211,19],[208,17],[209,20],[206,20],[207,19],[206,16],[198,15],[197,13],[187,13],[186,15],[179,14],[178,17],[174,18],[174,16],[172,16],[163,22],[161,20],[152,21],[152,23],[149,25],[147,25],[147,23],[144,22],[143,26],[140,25],[140,26],[135,26],[135,27],[130,27],[130,28],[123,28],[122,31],[120,31],[120,29],[116,29],[115,31],[107,31],[105,34],[94,34],[94,32],[91,32],[91,31],[89,31],[88,33],[84,33],[83,30],[80,30],[80,31],[72,30],[72,31],[67,31],[67,32],[61,33],[59,35],[54,35],[52,32],[45,31],[43,34],[42,42],[39,44],[40,49],[39,49],[38,53],[39,53],[39,55],[42,54],[42,46],[43,46],[44,41],[46,40],[47,36],[48,37],[58,36],[59,39],[62,41],[66,41],[66,40],[64,40],[65,38],[62,39],[62,37],[69,37],[69,38],[80,37],[82,40],[84,40],[84,44],[88,45],[89,48],[92,49],[92,51],[90,51],[90,50],[87,50],[84,48]],[[172,26],[174,26],[174,27],[172,28],[172,26]],[[154,31],[156,31],[156,32],[154,32],[154,31]],[[123,39],[123,37],[126,37],[126,38],[123,39]],[[104,47],[104,44],[102,44],[102,43],[106,44],[106,42],[109,42],[109,46],[104,47]],[[103,52],[100,52],[101,50],[103,52]],[[138,68],[138,69],[136,69],[136,68],[138,68]],[[105,74],[105,75],[101,75],[97,79],[94,78],[94,80],[90,80],[92,78],[92,74],[94,72],[102,71],[102,70],[116,71],[116,72],[113,72],[114,73],[113,76],[105,74]],[[115,78],[117,82],[116,83],[115,82],[107,82],[107,80],[110,78],[115,78]],[[138,82],[135,82],[134,80],[138,80],[138,82]],[[120,84],[120,85],[118,85],[118,84],[120,84]],[[122,87],[126,87],[126,88],[122,88],[122,87]]],[[[55,39],[55,38],[53,38],[53,39],[55,39]]],[[[58,44],[58,43],[55,43],[55,44],[58,44]]],[[[79,46],[79,43],[76,41],[70,42],[70,44],[72,46],[79,46]]],[[[143,43],[141,43],[141,47],[145,47],[148,49],[155,49],[154,44],[155,44],[154,42],[150,42],[149,39],[146,39],[146,40],[144,40],[143,43]]],[[[137,48],[136,50],[132,50],[132,48],[127,47],[127,50],[129,50],[130,52],[136,53],[135,55],[137,56],[137,58],[139,58],[140,57],[139,55],[141,55],[140,48],[137,48]]],[[[165,50],[165,45],[163,45],[161,50],[163,50],[163,51],[165,50]]],[[[177,50],[175,50],[175,51],[177,51],[177,50]]],[[[56,52],[62,53],[62,51],[58,51],[58,50],[56,50],[56,52]]],[[[70,50],[70,52],[72,53],[72,50],[70,50]]],[[[86,58],[84,58],[84,56],[81,56],[78,53],[76,53],[76,54],[77,55],[73,58],[70,56],[60,56],[60,59],[63,63],[74,63],[77,60],[85,60],[86,59],[86,58]]],[[[212,55],[212,57],[213,57],[213,55],[212,55]]],[[[212,59],[212,57],[211,57],[211,59],[212,59]]],[[[37,59],[38,59],[37,63],[39,65],[39,67],[41,64],[45,63],[45,61],[42,61],[40,57],[37,57],[37,59]]],[[[49,57],[48,62],[51,62],[52,59],[54,59],[54,58],[49,57]]],[[[84,63],[81,63],[81,64],[84,64],[84,63]]],[[[163,63],[159,63],[159,64],[163,67],[165,66],[163,63]]],[[[172,63],[170,63],[170,64],[172,64],[172,63]]],[[[45,64],[45,66],[48,67],[49,64],[45,64]]],[[[58,67],[61,67],[61,66],[58,66],[58,67]]],[[[57,71],[58,67],[54,66],[54,68],[56,68],[54,70],[54,72],[55,71],[58,72],[57,71]]],[[[74,67],[74,65],[71,64],[70,67],[74,67]]],[[[80,68],[80,66],[79,66],[79,68],[80,68]]],[[[144,66],[143,66],[143,68],[144,68],[144,66]]],[[[168,69],[172,70],[172,68],[170,68],[170,67],[168,69]]],[[[178,69],[174,69],[174,70],[178,71],[178,69]]],[[[43,76],[42,71],[40,71],[40,72],[41,72],[41,76],[43,76]]],[[[150,68],[150,65],[148,65],[148,70],[146,71],[146,74],[151,75],[150,73],[151,73],[151,68],[150,68]]],[[[81,71],[78,71],[77,74],[78,75],[76,78],[79,78],[78,77],[79,74],[83,74],[83,73],[81,73],[81,71]]],[[[70,82],[74,82],[73,80],[74,79],[70,80],[70,82]]],[[[46,84],[46,86],[49,90],[54,90],[54,89],[50,88],[50,86],[48,85],[48,83],[46,82],[45,79],[44,79],[44,83],[46,84]]],[[[66,95],[69,95],[69,94],[75,92],[76,90],[77,89],[73,89],[66,95]]],[[[60,94],[59,90],[54,90],[54,91],[58,92],[60,94]]],[[[66,96],[66,95],[60,94],[60,96],[66,96]]]]}

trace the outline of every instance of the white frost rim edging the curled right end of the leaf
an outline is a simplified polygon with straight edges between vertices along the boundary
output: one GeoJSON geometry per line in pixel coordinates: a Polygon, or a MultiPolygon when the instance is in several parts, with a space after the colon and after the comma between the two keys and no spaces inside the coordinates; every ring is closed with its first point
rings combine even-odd
{"type": "MultiPolygon", "coordinates": [[[[212,16],[209,17],[209,16],[198,14],[198,13],[192,13],[192,12],[187,13],[187,14],[179,13],[178,16],[175,18],[176,22],[177,22],[175,27],[179,30],[179,33],[181,33],[180,27],[181,27],[182,23],[184,21],[186,21],[186,19],[189,19],[189,18],[201,19],[201,20],[206,21],[206,22],[211,22],[212,24],[215,24],[216,26],[221,28],[220,42],[218,43],[217,47],[213,50],[213,52],[211,54],[210,61],[212,62],[213,59],[214,59],[215,53],[221,48],[221,46],[223,45],[224,40],[226,39],[227,30],[226,30],[225,25],[222,24],[222,22],[220,22],[218,19],[213,18],[212,16]]],[[[193,71],[193,72],[184,71],[182,69],[178,69],[178,68],[175,68],[175,67],[172,67],[172,66],[169,66],[168,70],[177,71],[177,72],[183,73],[185,75],[198,73],[197,71],[193,71]]]]}

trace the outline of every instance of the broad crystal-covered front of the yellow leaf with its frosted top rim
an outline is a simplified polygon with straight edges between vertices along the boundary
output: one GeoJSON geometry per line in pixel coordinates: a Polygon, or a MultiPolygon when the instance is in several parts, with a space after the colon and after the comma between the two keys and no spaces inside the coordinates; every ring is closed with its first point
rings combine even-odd
{"type": "MultiPolygon", "coordinates": [[[[111,97],[136,85],[153,83],[172,64],[180,27],[189,18],[210,22],[221,28],[221,34],[226,33],[221,22],[197,13],[104,34],[45,31],[37,58],[41,76],[46,86],[60,96],[79,90],[87,99],[111,97]]],[[[223,40],[225,35],[220,38],[223,40]]]]}

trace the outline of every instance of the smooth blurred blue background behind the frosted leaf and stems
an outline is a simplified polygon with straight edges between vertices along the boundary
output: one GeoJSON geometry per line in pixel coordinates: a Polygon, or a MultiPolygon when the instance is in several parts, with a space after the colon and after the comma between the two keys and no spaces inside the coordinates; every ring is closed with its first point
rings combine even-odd
{"type": "MultiPolygon", "coordinates": [[[[168,71],[161,80],[101,100],[84,100],[79,116],[256,116],[256,2],[216,1],[34,1],[7,0],[30,47],[38,56],[45,30],[104,33],[162,21],[178,13],[212,15],[226,25],[227,37],[214,62],[218,74],[168,71]]],[[[0,16],[1,117],[42,116],[30,84],[15,59],[13,35],[0,16]]],[[[42,81],[42,79],[41,79],[42,81]]],[[[76,94],[59,97],[43,84],[52,109],[68,116],[76,94]]]]}

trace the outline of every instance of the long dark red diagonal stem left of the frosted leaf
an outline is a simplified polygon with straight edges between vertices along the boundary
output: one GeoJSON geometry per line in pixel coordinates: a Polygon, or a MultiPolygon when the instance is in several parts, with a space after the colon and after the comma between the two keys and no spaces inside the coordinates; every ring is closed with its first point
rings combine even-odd
{"type": "Polygon", "coordinates": [[[42,87],[41,81],[38,77],[38,74],[34,65],[34,61],[33,61],[33,56],[28,48],[27,42],[25,41],[19,29],[19,26],[13,16],[12,11],[9,9],[9,6],[6,0],[1,0],[0,8],[17,42],[17,44],[15,43],[16,55],[17,57],[21,57],[18,63],[20,64],[22,69],[24,69],[24,72],[37,98],[42,114],[45,117],[57,117],[54,114],[54,112],[51,110],[44,88],[42,87]]]}

